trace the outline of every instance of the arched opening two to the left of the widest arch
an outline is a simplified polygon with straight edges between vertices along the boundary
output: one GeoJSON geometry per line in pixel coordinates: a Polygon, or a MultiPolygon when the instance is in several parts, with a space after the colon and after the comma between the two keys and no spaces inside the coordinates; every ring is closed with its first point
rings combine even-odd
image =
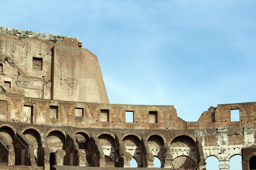
{"type": "Polygon", "coordinates": [[[123,138],[126,152],[129,152],[136,160],[137,167],[141,167],[141,141],[135,135],[127,135],[123,138]]]}

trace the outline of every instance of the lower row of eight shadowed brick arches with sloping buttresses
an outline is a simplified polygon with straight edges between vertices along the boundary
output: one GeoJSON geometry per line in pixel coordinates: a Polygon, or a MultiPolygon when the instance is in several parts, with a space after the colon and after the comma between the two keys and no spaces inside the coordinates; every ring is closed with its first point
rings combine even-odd
{"type": "MultiPolygon", "coordinates": [[[[158,134],[141,137],[137,134],[122,136],[121,133],[118,135],[101,132],[96,136],[91,136],[86,131],[76,131],[72,134],[59,128],[43,130],[44,132],[34,127],[13,129],[9,126],[2,126],[0,134],[14,146],[14,165],[44,166],[45,169],[47,166],[51,168],[54,164],[75,166],[82,164],[102,166],[104,164],[106,167],[130,167],[130,160],[133,158],[137,167],[154,167],[154,160],[159,160],[161,167],[166,167],[166,158],[174,160],[172,162],[175,163],[176,157],[184,156],[194,162],[193,166],[196,162],[196,159],[185,153],[191,147],[195,147],[195,141],[184,135],[174,137],[169,144],[158,134]],[[166,146],[174,151],[171,152],[166,146]],[[178,151],[180,147],[185,148],[186,151],[178,151]],[[82,153],[80,155],[84,154],[84,157],[79,157],[78,152],[82,153]],[[168,156],[166,152],[170,152],[168,156]],[[124,160],[121,160],[122,153],[127,156],[124,160]],[[152,155],[152,157],[149,159],[145,155],[152,155]]],[[[1,164],[7,159],[8,154],[6,149],[0,151],[1,164]]]]}

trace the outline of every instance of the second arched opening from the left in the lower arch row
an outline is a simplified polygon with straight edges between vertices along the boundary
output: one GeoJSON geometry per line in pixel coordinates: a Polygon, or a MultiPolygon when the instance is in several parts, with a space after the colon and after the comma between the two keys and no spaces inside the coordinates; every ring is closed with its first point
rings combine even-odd
{"type": "Polygon", "coordinates": [[[39,156],[40,156],[40,154],[39,154],[40,134],[34,129],[27,129],[23,132],[23,134],[34,146],[35,160],[36,160],[36,164],[38,165],[38,160],[39,160],[39,156]]]}

